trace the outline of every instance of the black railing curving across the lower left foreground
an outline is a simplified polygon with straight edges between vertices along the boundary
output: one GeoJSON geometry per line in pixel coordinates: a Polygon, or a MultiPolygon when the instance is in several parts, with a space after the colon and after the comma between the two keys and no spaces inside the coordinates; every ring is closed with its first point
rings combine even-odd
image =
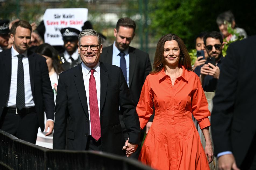
{"type": "Polygon", "coordinates": [[[0,130],[0,169],[20,170],[143,170],[140,162],[93,151],[51,150],[0,130]]]}

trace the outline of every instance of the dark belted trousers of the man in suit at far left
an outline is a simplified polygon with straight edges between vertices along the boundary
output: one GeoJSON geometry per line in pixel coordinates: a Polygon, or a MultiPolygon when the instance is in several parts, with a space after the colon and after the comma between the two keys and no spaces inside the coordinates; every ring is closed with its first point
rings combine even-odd
{"type": "Polygon", "coordinates": [[[36,143],[38,119],[35,112],[27,114],[8,113],[3,110],[0,118],[0,129],[27,142],[36,143]]]}

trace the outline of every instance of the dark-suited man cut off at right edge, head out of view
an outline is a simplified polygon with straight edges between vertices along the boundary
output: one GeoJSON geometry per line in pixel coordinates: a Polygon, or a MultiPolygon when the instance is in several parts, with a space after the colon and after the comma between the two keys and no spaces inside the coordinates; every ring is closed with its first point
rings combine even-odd
{"type": "Polygon", "coordinates": [[[232,43],[223,62],[211,116],[220,169],[256,169],[255,46],[256,36],[232,43]]]}

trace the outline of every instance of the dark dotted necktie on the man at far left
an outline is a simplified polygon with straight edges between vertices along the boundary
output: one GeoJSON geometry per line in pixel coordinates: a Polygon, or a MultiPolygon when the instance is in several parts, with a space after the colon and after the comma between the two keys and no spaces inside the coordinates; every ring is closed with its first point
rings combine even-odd
{"type": "Polygon", "coordinates": [[[24,70],[22,63],[23,55],[18,55],[18,72],[17,72],[17,94],[16,94],[16,108],[21,110],[25,106],[25,92],[24,92],[24,70]]]}

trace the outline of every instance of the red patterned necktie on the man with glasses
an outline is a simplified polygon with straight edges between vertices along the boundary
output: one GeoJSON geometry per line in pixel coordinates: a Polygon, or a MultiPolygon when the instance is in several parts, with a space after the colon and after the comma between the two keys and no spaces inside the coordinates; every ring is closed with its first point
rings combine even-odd
{"type": "Polygon", "coordinates": [[[90,118],[91,118],[91,131],[92,137],[98,141],[100,139],[100,117],[99,106],[97,98],[97,89],[95,77],[93,76],[94,69],[90,70],[91,75],[89,79],[89,106],[90,106],[90,118]]]}

